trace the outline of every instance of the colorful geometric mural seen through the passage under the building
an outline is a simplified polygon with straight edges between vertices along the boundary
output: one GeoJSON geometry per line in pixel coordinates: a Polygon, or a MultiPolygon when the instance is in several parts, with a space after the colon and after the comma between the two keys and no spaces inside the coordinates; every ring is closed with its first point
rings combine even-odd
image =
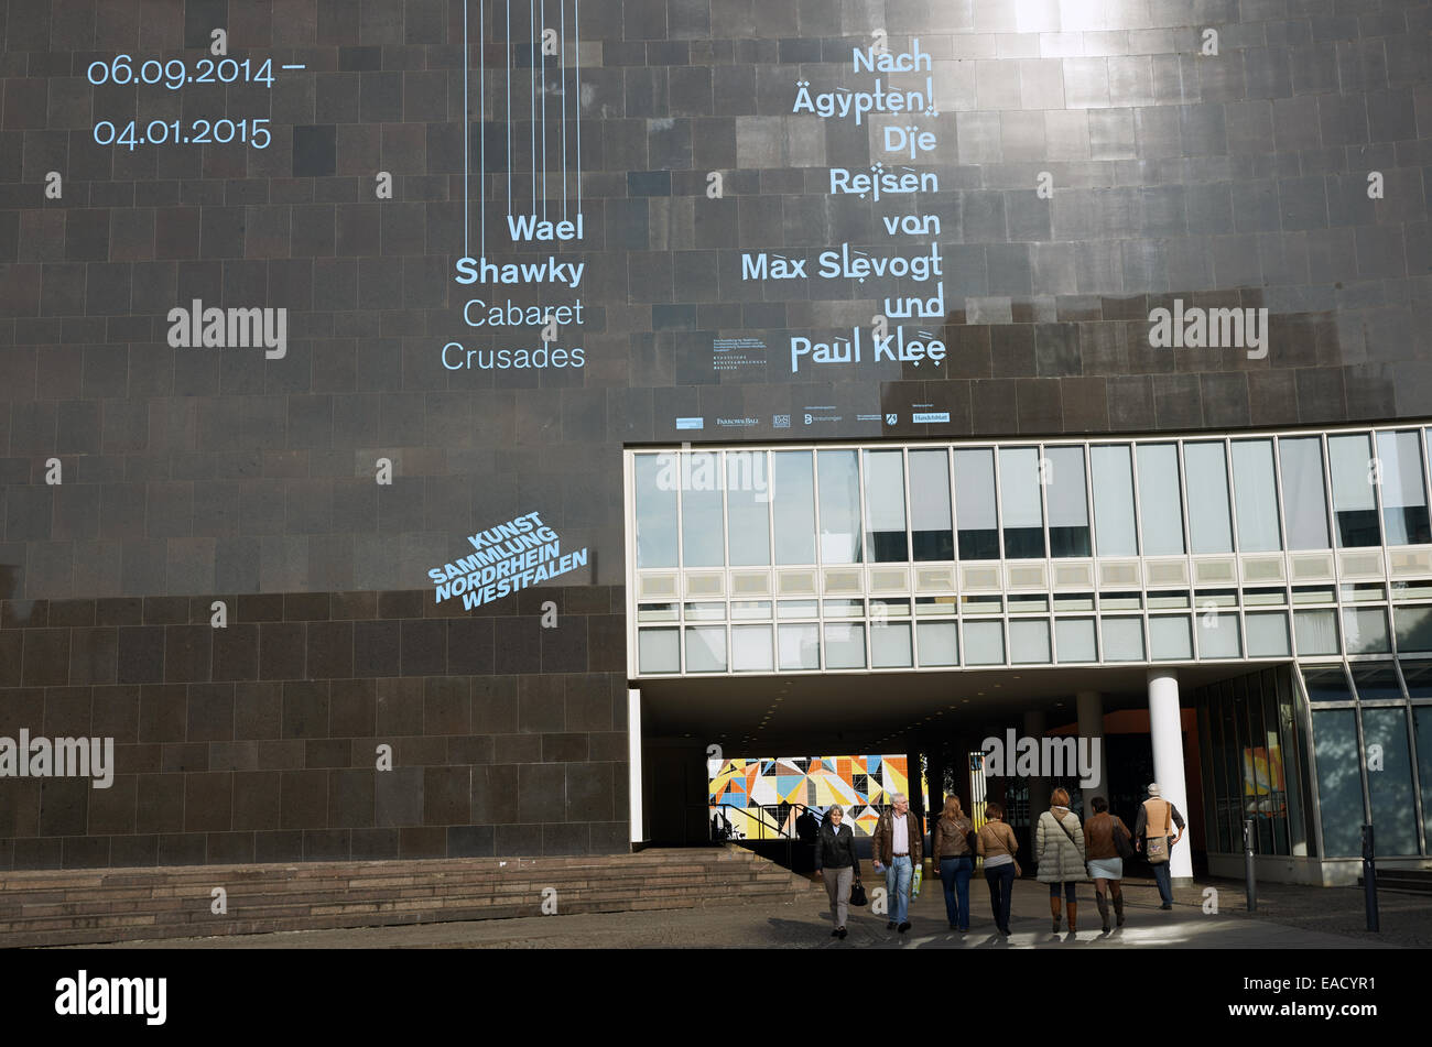
{"type": "Polygon", "coordinates": [[[729,821],[737,840],[769,840],[795,834],[803,808],[823,818],[839,804],[855,832],[869,835],[879,818],[875,805],[909,794],[906,764],[904,755],[712,760],[712,815],[729,821]]]}

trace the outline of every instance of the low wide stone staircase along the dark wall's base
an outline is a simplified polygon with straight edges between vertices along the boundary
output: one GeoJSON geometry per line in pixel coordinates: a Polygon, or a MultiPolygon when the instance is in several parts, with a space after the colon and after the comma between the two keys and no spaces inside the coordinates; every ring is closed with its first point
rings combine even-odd
{"type": "Polygon", "coordinates": [[[0,948],[266,934],[732,901],[825,903],[737,847],[564,858],[0,871],[0,948]],[[226,914],[215,914],[222,887],[226,914]],[[548,888],[556,891],[553,895],[548,888]],[[547,894],[544,895],[544,891],[547,894]]]}

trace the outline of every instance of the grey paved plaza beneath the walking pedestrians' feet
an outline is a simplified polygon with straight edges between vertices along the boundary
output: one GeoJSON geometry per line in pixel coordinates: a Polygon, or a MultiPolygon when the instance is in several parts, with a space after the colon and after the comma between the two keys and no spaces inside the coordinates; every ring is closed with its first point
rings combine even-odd
{"type": "MultiPolygon", "coordinates": [[[[866,888],[875,887],[866,880],[866,888]]],[[[1206,881],[1176,890],[1173,911],[1158,910],[1153,881],[1126,881],[1128,923],[1100,933],[1093,885],[1080,885],[1078,934],[1050,934],[1048,890],[1032,880],[1014,891],[1012,937],[994,934],[990,895],[971,883],[968,934],[945,923],[938,881],[911,905],[911,930],[896,934],[885,918],[852,910],[849,937],[831,938],[825,895],[783,904],[710,904],[687,910],[483,920],[418,927],[182,938],[123,943],[107,948],[1256,948],[1343,950],[1432,947],[1432,897],[1386,891],[1382,933],[1366,931],[1359,888],[1259,885],[1259,911],[1249,914],[1243,884],[1206,881]],[[934,887],[934,890],[931,890],[934,887]],[[1217,913],[1206,913],[1217,891],[1217,913]]],[[[86,947],[93,948],[93,947],[86,947]]]]}

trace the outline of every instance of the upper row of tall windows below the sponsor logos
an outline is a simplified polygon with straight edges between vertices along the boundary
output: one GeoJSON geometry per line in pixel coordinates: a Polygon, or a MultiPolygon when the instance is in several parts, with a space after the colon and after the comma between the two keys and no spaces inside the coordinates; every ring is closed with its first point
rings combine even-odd
{"type": "Polygon", "coordinates": [[[1429,432],[642,452],[633,456],[636,565],[1429,544],[1429,432]]]}

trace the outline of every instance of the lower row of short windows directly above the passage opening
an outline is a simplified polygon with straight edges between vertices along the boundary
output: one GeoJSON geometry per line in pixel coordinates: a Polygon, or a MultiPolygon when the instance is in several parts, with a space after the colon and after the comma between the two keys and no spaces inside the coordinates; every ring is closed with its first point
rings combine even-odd
{"type": "MultiPolygon", "coordinates": [[[[813,602],[813,601],[812,601],[813,602]]],[[[842,604],[859,601],[841,601],[842,604]]],[[[769,619],[769,612],[766,614],[769,619]]],[[[1199,615],[766,621],[643,626],[637,672],[799,672],[1390,654],[1388,608],[1199,615]],[[1340,628],[1339,628],[1340,624],[1340,628]]],[[[905,618],[908,618],[908,611],[905,618]]],[[[687,616],[687,621],[699,621],[687,616]]],[[[1399,652],[1432,652],[1432,605],[1393,608],[1399,652]]]]}

